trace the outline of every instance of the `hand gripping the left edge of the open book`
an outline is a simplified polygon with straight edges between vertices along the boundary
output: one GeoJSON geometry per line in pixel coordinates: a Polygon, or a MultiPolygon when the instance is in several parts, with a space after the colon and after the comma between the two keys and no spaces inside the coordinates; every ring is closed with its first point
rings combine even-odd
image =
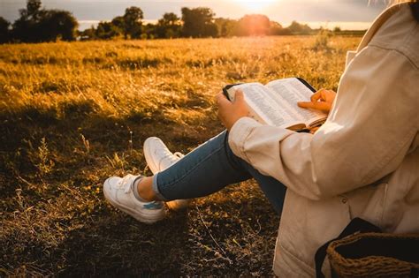
{"type": "Polygon", "coordinates": [[[218,117],[225,125],[225,128],[230,131],[232,125],[235,124],[240,117],[248,116],[248,104],[244,99],[243,92],[236,91],[234,101],[229,101],[223,93],[216,96],[218,105],[218,117]]]}

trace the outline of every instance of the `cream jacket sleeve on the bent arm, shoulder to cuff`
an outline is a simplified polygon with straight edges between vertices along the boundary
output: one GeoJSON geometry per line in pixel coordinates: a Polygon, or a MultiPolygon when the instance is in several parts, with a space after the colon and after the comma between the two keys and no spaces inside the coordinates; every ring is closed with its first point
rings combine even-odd
{"type": "Polygon", "coordinates": [[[397,51],[367,47],[349,64],[326,123],[315,135],[263,125],[232,126],[234,154],[309,199],[376,182],[397,169],[419,125],[419,72],[397,51]]]}

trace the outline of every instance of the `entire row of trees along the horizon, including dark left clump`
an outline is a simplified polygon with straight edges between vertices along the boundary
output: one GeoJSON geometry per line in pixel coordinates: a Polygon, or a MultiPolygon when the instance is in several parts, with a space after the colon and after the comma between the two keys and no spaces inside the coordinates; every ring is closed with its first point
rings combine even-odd
{"type": "Polygon", "coordinates": [[[27,0],[26,9],[19,10],[19,19],[10,23],[0,17],[0,43],[124,39],[163,39],[179,37],[230,37],[275,34],[312,34],[316,30],[296,21],[283,27],[261,14],[241,19],[216,18],[209,8],[182,8],[181,17],[164,13],[155,24],[143,22],[139,7],[126,8],[125,14],[97,26],[78,31],[78,22],[71,12],[42,8],[41,0],[27,0]]]}

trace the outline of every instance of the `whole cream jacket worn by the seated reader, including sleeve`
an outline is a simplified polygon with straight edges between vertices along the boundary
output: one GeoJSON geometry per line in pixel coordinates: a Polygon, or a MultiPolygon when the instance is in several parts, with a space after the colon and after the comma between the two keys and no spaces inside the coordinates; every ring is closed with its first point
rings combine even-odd
{"type": "Polygon", "coordinates": [[[273,266],[281,277],[314,276],[317,248],[354,217],[419,232],[419,24],[408,4],[383,12],[347,57],[315,135],[249,117],[230,132],[234,154],[288,188],[273,266]]]}

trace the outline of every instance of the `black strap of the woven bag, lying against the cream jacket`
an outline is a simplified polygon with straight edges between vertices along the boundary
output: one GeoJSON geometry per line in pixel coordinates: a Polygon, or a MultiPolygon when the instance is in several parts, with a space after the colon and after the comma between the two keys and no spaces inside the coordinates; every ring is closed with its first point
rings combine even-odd
{"type": "Polygon", "coordinates": [[[332,241],[341,239],[343,237],[350,236],[354,233],[367,233],[367,232],[376,232],[380,233],[381,229],[379,229],[376,225],[367,222],[361,218],[354,218],[349,224],[347,228],[345,228],[339,235],[339,237],[333,238],[327,243],[323,244],[319,249],[317,249],[315,255],[315,262],[316,262],[316,277],[317,278],[324,278],[324,274],[322,273],[322,267],[324,263],[324,259],[326,259],[326,251],[329,244],[332,241]]]}

